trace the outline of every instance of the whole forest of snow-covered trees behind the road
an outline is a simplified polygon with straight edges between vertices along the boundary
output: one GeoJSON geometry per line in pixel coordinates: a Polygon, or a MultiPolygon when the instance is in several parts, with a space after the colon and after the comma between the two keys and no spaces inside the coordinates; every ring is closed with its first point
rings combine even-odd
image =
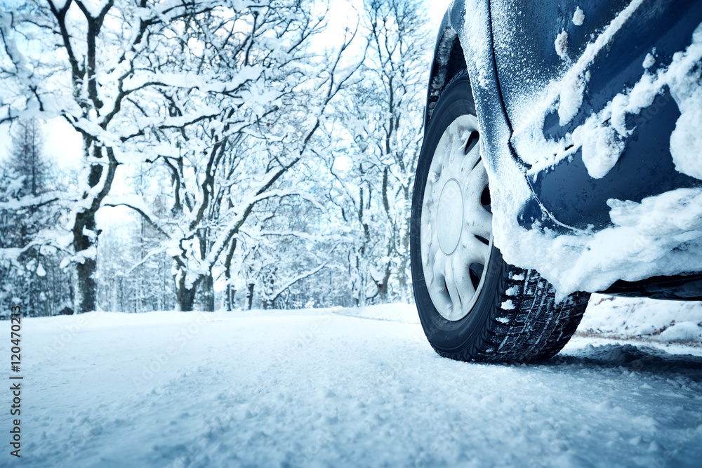
{"type": "Polygon", "coordinates": [[[416,0],[6,4],[1,313],[411,302],[427,18],[416,0]]]}

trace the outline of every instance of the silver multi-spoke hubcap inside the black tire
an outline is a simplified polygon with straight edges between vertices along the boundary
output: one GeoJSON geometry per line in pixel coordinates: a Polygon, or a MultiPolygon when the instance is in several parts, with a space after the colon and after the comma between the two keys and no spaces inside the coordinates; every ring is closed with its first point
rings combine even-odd
{"type": "Polygon", "coordinates": [[[424,277],[439,314],[463,319],[482,289],[492,248],[488,178],[477,119],[458,117],[434,153],[422,203],[424,277]]]}

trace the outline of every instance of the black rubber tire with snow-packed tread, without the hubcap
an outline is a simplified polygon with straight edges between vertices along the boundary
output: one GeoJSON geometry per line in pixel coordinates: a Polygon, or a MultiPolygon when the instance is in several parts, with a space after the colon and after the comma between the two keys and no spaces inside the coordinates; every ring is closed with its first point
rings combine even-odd
{"type": "Polygon", "coordinates": [[[411,269],[419,318],[438,354],[461,361],[543,361],[566,345],[578,328],[589,293],[555,301],[555,289],[535,270],[506,263],[493,246],[484,285],[471,311],[449,321],[439,314],[427,289],[420,244],[424,189],[432,157],[446,128],[459,116],[475,115],[467,72],[449,81],[425,128],[417,165],[411,218],[411,269]],[[513,309],[503,308],[512,302],[513,309]]]}

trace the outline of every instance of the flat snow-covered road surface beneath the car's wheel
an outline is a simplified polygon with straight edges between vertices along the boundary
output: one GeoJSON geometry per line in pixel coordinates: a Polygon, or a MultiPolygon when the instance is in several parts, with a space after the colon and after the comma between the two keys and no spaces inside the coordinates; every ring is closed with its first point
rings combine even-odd
{"type": "Polygon", "coordinates": [[[0,465],[701,465],[702,349],[577,337],[540,365],[463,363],[432,351],[415,314],[24,320],[22,458],[5,389],[0,465]]]}

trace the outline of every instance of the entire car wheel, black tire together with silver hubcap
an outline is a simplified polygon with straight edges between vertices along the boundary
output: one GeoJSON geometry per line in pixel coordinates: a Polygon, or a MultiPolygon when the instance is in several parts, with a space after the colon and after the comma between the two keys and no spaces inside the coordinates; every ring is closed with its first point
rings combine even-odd
{"type": "Polygon", "coordinates": [[[417,165],[410,241],[420,321],[445,357],[548,359],[575,333],[590,295],[556,302],[536,271],[503,260],[480,148],[470,80],[460,72],[439,96],[417,165]]]}

